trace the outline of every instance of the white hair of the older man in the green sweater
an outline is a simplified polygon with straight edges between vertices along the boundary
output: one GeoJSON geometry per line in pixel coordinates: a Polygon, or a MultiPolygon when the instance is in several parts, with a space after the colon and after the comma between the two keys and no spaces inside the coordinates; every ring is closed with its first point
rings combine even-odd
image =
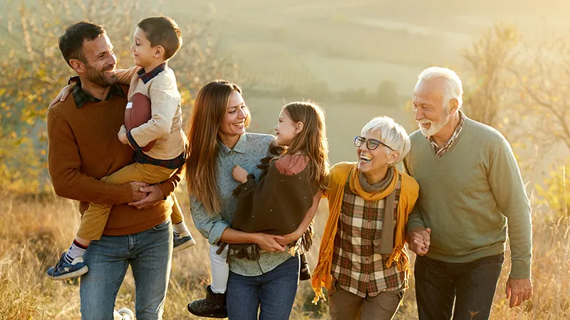
{"type": "Polygon", "coordinates": [[[430,67],[418,75],[418,82],[415,84],[414,92],[418,91],[422,82],[432,79],[443,81],[443,107],[448,108],[452,99],[457,99],[457,108],[463,104],[463,82],[455,71],[449,68],[430,67]]]}

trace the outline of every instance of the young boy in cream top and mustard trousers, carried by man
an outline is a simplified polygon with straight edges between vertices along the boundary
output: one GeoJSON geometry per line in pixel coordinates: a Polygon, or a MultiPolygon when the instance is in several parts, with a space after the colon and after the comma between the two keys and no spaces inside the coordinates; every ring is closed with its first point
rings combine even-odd
{"type": "MultiPolygon", "coordinates": [[[[184,165],[187,154],[186,137],[182,131],[180,93],[177,90],[175,74],[167,67],[168,60],[177,53],[180,46],[182,35],[171,18],[150,17],[138,23],[131,46],[137,66],[129,70],[118,70],[116,74],[120,82],[130,84],[129,100],[135,94],[142,94],[150,99],[152,118],[130,131],[124,125],[120,128],[118,138],[120,142],[137,151],[136,162],[102,178],[102,181],[159,183],[170,178],[184,165]],[[144,146],[155,140],[152,149],[142,151],[144,146]]],[[[64,89],[64,97],[65,92],[64,89]]],[[[130,107],[129,105],[127,107],[130,107]]],[[[176,252],[191,247],[196,242],[184,223],[175,196],[172,196],[172,201],[173,251],[176,252]]],[[[83,253],[92,240],[100,239],[111,207],[90,203],[88,210],[81,217],[76,239],[69,250],[61,255],[57,265],[48,270],[48,277],[60,280],[88,272],[88,266],[83,262],[83,253]]]]}

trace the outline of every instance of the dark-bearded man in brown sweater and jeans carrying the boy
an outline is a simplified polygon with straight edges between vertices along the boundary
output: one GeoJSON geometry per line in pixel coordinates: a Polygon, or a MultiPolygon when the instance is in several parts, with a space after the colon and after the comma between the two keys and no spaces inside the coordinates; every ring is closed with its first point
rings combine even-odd
{"type": "MultiPolygon", "coordinates": [[[[128,86],[118,84],[113,45],[100,26],[87,22],[69,26],[59,48],[81,85],[73,89],[73,99],[48,110],[53,188],[58,196],[80,201],[82,213],[90,202],[113,205],[103,236],[91,242],[84,255],[90,271],[81,277],[82,319],[113,317],[129,265],[137,291],[137,319],[162,319],[172,255],[170,195],[182,178],[181,170],[155,186],[100,181],[134,161],[133,149],[117,137],[128,86]]],[[[73,262],[65,267],[83,263],[73,262]]]]}

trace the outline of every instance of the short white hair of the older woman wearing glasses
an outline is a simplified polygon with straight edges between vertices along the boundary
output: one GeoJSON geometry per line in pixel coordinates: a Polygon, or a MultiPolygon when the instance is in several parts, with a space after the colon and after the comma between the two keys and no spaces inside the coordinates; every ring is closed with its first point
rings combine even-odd
{"type": "Polygon", "coordinates": [[[391,165],[402,161],[410,151],[411,144],[408,132],[390,117],[383,116],[371,119],[362,128],[362,134],[368,136],[378,134],[380,141],[392,148],[392,150],[386,148],[388,154],[393,151],[398,152],[398,159],[391,165]]]}

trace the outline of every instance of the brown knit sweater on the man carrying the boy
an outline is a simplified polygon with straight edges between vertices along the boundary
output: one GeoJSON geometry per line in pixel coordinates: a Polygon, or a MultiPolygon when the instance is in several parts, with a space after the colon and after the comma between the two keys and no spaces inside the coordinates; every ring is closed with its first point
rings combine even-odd
{"type": "Polygon", "coordinates": [[[117,132],[124,124],[128,86],[121,85],[124,97],[114,96],[101,102],[86,102],[77,107],[73,95],[48,110],[48,167],[53,189],[58,196],[81,201],[79,210],[89,202],[113,206],[104,235],[130,235],[152,228],[170,217],[170,194],[182,180],[182,169],[159,184],[167,196],[147,209],[128,206],[132,201],[129,183],[121,185],[99,181],[103,176],[132,164],[134,151],[121,144],[117,132]]]}

